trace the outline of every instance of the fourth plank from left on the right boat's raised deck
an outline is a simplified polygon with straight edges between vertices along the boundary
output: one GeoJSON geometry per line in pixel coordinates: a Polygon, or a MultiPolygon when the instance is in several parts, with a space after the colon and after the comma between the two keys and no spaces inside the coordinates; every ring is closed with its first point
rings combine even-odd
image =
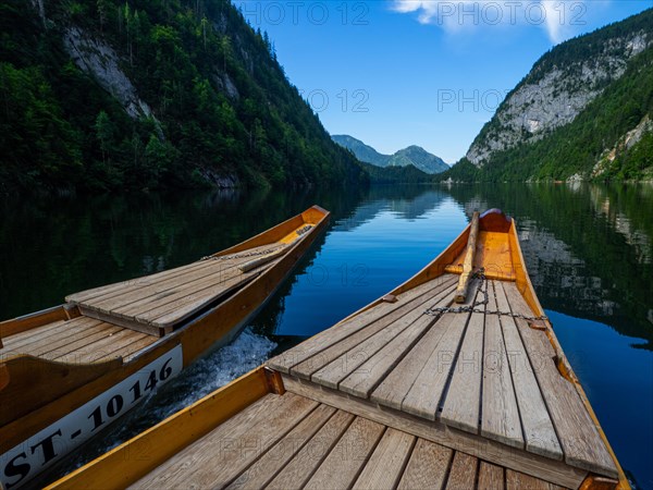
{"type": "MultiPolygon", "coordinates": [[[[443,307],[451,305],[454,299],[453,294],[452,292],[440,296],[442,298],[431,306],[443,307]]],[[[385,378],[387,372],[402,360],[415,343],[421,339],[423,333],[435,323],[436,318],[431,315],[424,315],[422,308],[407,315],[405,317],[406,320],[410,320],[417,315],[419,317],[375,354],[371,354],[368,360],[356,368],[338,384],[338,389],[355,396],[368,399],[371,391],[385,378]]],[[[366,353],[370,352],[369,347],[362,348],[366,353]]]]}

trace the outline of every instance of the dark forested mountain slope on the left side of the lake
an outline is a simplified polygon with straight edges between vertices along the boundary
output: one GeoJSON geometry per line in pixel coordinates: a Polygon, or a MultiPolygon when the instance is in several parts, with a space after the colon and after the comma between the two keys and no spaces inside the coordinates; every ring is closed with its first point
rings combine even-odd
{"type": "Polygon", "coordinates": [[[365,182],[230,0],[4,0],[0,192],[365,182]]]}

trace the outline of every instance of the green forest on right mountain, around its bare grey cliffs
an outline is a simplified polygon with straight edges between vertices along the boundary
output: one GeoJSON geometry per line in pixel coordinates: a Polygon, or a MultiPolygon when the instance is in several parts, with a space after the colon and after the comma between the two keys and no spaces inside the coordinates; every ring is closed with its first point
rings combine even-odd
{"type": "MultiPolygon", "coordinates": [[[[571,69],[566,68],[580,66],[578,61],[591,59],[605,45],[606,39],[634,32],[653,33],[652,26],[653,10],[648,10],[624,22],[564,42],[544,54],[518,87],[527,82],[537,82],[552,66],[563,68],[569,79],[577,79],[571,69]]],[[[607,46],[609,47],[609,42],[607,46]]],[[[535,143],[521,143],[508,150],[495,152],[482,168],[477,168],[463,158],[452,170],[436,175],[435,180],[562,181],[575,174],[596,181],[652,180],[653,133],[650,131],[632,147],[618,148],[614,160],[609,161],[604,157],[606,150],[618,146],[621,138],[646,115],[653,119],[653,48],[633,57],[621,77],[602,83],[604,91],[571,123],[554,130],[535,143]],[[594,167],[600,161],[602,172],[594,172],[594,167]]],[[[498,120],[494,118],[477,138],[490,133],[496,124],[498,120]]]]}

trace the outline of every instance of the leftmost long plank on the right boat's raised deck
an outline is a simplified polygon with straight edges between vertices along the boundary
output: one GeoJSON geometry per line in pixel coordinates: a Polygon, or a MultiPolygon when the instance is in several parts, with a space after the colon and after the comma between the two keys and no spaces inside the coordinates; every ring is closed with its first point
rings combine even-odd
{"type": "Polygon", "coordinates": [[[435,287],[453,284],[456,278],[451,274],[443,275],[434,279],[433,281],[421,284],[406,293],[397,295],[396,303],[379,302],[369,309],[366,309],[354,317],[349,317],[340,323],[336,323],[334,327],[311,336],[296,347],[289,348],[285,353],[270,359],[267,365],[278,371],[289,373],[293,367],[310,357],[320,354],[322,351],[329,348],[335,343],[341,342],[347,336],[358,332],[362,328],[405,306],[405,304],[410,302],[410,299],[426,294],[435,287]]]}

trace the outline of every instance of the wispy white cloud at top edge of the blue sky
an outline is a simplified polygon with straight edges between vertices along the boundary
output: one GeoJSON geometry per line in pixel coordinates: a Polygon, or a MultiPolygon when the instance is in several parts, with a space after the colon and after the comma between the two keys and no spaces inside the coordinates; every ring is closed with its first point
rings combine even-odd
{"type": "Polygon", "coordinates": [[[393,0],[392,10],[417,14],[420,24],[438,25],[449,33],[533,25],[558,44],[571,37],[576,26],[584,25],[587,4],[588,0],[393,0]]]}

